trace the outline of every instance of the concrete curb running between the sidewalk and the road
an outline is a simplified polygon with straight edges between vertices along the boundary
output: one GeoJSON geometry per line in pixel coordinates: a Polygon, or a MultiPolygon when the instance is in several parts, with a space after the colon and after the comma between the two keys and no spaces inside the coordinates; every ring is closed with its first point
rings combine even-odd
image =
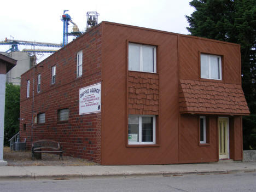
{"type": "Polygon", "coordinates": [[[59,175],[21,175],[21,176],[0,176],[1,180],[69,180],[69,179],[96,179],[96,178],[132,178],[132,177],[175,177],[185,175],[207,175],[207,174],[234,174],[256,172],[255,169],[236,170],[202,170],[202,171],[171,171],[152,173],[124,173],[124,174],[59,174],[59,175]]]}

